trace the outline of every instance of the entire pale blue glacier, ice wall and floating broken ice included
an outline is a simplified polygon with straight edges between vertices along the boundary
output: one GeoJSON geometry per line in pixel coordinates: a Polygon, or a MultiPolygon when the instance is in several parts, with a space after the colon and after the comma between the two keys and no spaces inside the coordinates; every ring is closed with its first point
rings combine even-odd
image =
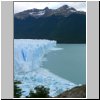
{"type": "Polygon", "coordinates": [[[49,52],[62,50],[56,44],[46,39],[14,39],[14,80],[22,82],[19,85],[24,91],[22,97],[38,85],[50,88],[52,97],[77,86],[42,67],[49,52]]]}

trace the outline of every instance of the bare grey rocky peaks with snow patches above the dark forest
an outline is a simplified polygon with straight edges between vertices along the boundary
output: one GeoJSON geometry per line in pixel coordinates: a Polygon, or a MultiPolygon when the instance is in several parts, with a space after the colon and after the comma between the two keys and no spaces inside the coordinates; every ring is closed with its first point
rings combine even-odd
{"type": "Polygon", "coordinates": [[[16,13],[15,17],[19,18],[19,19],[24,19],[27,18],[28,16],[32,16],[35,18],[39,18],[39,17],[48,17],[48,16],[52,16],[52,15],[62,15],[62,16],[68,16],[71,13],[82,13],[85,14],[85,12],[83,11],[77,11],[75,8],[70,7],[68,5],[64,5],[60,8],[57,9],[49,9],[48,7],[44,8],[44,9],[30,9],[30,10],[26,10],[20,13],[16,13]]]}

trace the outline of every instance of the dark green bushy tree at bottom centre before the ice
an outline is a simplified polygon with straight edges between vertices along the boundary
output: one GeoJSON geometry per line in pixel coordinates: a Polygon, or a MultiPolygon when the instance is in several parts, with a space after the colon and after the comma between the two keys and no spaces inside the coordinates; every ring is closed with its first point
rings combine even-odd
{"type": "Polygon", "coordinates": [[[34,91],[30,90],[29,96],[26,98],[49,98],[49,88],[39,85],[34,88],[34,91]]]}

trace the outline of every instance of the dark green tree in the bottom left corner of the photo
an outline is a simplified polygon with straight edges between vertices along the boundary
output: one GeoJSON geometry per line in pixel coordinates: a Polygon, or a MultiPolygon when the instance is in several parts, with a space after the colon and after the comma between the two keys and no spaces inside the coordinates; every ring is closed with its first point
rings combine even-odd
{"type": "Polygon", "coordinates": [[[18,84],[21,84],[20,81],[14,81],[14,98],[20,98],[22,96],[22,89],[18,87],[18,84]]]}

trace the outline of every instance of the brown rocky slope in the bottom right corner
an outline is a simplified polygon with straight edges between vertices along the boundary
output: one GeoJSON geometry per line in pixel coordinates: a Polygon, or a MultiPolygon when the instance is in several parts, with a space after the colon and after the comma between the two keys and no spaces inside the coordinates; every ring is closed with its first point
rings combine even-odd
{"type": "Polygon", "coordinates": [[[86,98],[86,85],[74,87],[55,98],[86,98]]]}

